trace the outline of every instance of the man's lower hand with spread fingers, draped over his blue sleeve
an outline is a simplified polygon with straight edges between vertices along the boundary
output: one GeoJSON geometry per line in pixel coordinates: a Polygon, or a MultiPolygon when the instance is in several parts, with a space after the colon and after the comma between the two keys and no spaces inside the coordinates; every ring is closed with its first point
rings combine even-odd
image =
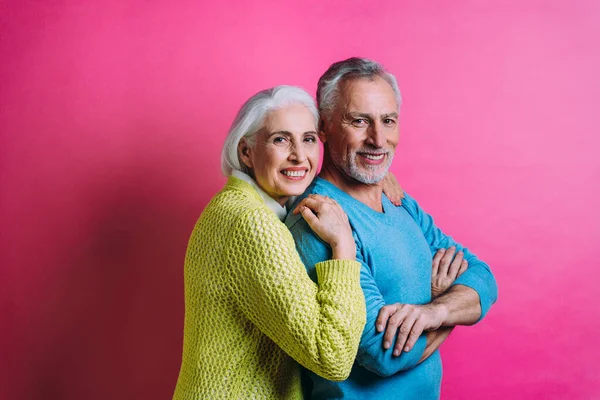
{"type": "Polygon", "coordinates": [[[381,307],[377,317],[378,332],[383,332],[386,322],[387,329],[383,336],[383,347],[389,349],[394,335],[398,332],[394,355],[399,356],[404,351],[410,351],[423,331],[438,329],[445,318],[445,309],[432,304],[390,304],[381,307]]]}

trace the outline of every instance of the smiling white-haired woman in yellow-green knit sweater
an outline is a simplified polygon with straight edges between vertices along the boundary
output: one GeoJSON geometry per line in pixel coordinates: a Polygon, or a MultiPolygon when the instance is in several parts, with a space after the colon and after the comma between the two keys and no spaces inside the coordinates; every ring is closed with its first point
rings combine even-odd
{"type": "Polygon", "coordinates": [[[348,219],[321,196],[294,210],[332,249],[318,284],[281,222],[315,176],[317,120],[310,95],[290,86],[257,93],[235,118],[222,153],[228,181],[188,245],[174,399],[301,398],[297,363],[331,380],[350,373],[365,303],[348,219]]]}

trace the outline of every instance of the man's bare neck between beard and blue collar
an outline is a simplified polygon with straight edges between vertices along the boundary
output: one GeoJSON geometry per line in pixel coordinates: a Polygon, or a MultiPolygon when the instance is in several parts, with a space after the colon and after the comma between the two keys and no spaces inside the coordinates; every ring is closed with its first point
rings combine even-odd
{"type": "Polygon", "coordinates": [[[383,194],[382,181],[372,185],[359,182],[347,176],[340,168],[336,167],[327,154],[323,158],[323,167],[321,168],[319,177],[334,184],[373,210],[383,212],[383,205],[381,203],[381,196],[383,194]]]}

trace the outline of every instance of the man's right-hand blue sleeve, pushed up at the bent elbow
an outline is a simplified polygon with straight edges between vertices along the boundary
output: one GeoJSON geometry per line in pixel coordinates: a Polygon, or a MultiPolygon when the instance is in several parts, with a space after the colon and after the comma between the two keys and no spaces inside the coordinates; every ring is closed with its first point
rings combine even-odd
{"type": "Polygon", "coordinates": [[[447,249],[450,246],[456,246],[456,251],[462,250],[464,252],[464,258],[469,262],[469,267],[454,281],[453,285],[468,286],[479,294],[479,303],[481,305],[481,317],[479,320],[481,320],[498,298],[498,286],[490,267],[477,258],[469,249],[457,243],[452,237],[444,234],[435,225],[433,218],[423,211],[415,199],[407,193],[404,193],[404,195],[402,207],[411,214],[415,222],[421,227],[421,231],[429,243],[432,254],[440,248],[447,249]]]}

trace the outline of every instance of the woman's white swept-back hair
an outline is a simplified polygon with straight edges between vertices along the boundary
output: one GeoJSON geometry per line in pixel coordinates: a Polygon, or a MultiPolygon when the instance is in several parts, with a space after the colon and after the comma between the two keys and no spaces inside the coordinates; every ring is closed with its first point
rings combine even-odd
{"type": "Polygon", "coordinates": [[[304,89],[295,86],[280,85],[261,90],[250,97],[240,108],[221,152],[221,170],[225,176],[233,170],[247,172],[247,168],[238,154],[238,144],[242,138],[249,146],[254,146],[255,135],[263,127],[267,115],[276,109],[292,104],[301,104],[308,108],[315,119],[315,127],[319,121],[319,113],[315,101],[304,89]]]}

